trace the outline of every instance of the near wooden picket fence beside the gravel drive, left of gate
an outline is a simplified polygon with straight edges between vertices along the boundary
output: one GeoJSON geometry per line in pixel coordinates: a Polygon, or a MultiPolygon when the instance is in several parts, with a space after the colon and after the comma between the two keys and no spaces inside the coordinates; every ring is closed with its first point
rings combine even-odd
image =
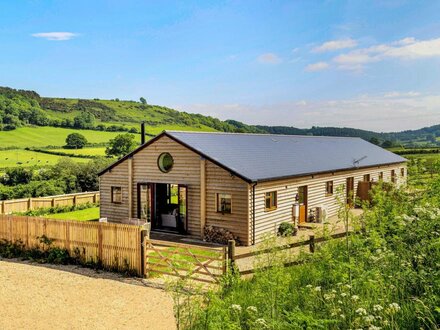
{"type": "Polygon", "coordinates": [[[26,248],[42,248],[42,236],[86,262],[100,261],[106,268],[143,274],[139,226],[0,215],[0,241],[21,241],[26,248]]]}

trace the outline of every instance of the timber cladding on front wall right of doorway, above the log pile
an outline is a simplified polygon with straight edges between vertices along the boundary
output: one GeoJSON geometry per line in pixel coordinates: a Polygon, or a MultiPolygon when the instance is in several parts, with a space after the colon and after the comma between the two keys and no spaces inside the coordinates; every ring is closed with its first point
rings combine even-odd
{"type": "Polygon", "coordinates": [[[206,225],[221,227],[250,244],[248,184],[212,162],[206,162],[206,225]],[[231,195],[231,213],[217,212],[216,194],[231,195]]]}

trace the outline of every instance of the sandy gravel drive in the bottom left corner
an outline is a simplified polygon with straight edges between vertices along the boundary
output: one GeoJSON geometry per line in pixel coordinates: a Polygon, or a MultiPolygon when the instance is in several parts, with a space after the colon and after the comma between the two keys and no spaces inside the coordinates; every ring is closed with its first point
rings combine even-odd
{"type": "Polygon", "coordinates": [[[79,271],[0,260],[0,329],[176,328],[164,291],[79,271]]]}

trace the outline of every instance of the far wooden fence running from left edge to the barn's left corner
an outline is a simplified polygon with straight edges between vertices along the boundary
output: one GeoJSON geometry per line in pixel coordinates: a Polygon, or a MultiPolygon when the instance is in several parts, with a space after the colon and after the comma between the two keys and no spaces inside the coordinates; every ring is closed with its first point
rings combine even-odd
{"type": "Polygon", "coordinates": [[[26,212],[54,206],[73,206],[86,203],[99,203],[99,191],[66,194],[48,197],[21,198],[0,201],[0,214],[26,212]]]}

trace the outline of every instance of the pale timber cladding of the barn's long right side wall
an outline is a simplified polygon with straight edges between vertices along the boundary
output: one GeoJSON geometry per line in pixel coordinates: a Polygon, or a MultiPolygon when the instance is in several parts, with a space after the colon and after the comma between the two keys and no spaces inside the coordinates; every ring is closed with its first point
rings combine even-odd
{"type": "MultiPolygon", "coordinates": [[[[276,234],[281,222],[292,222],[292,206],[295,203],[298,187],[308,187],[308,209],[323,207],[327,211],[327,217],[331,217],[338,213],[340,205],[338,198],[345,201],[345,189],[340,193],[338,190],[341,189],[341,186],[345,187],[346,178],[354,177],[354,193],[356,193],[358,182],[363,180],[365,174],[370,175],[370,181],[377,182],[379,181],[379,173],[383,172],[383,180],[389,182],[392,170],[395,170],[397,184],[404,184],[407,177],[405,163],[258,183],[255,186],[256,243],[260,242],[264,235],[276,234]],[[405,175],[403,177],[401,176],[401,168],[404,168],[405,175]],[[333,195],[330,196],[326,195],[327,181],[333,181],[333,195]],[[266,211],[264,207],[265,193],[270,191],[277,192],[277,208],[266,211]]],[[[250,219],[252,219],[252,186],[249,187],[249,211],[250,219]]],[[[250,228],[249,235],[252,235],[252,228],[250,228]]]]}

